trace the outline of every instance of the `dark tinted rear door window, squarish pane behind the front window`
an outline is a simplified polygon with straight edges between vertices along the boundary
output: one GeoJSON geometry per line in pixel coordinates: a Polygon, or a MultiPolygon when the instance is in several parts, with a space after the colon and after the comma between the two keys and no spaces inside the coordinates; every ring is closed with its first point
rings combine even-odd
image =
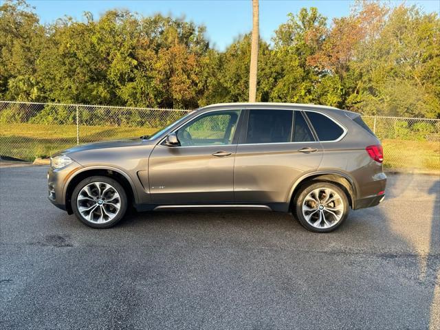
{"type": "Polygon", "coordinates": [[[293,113],[292,110],[250,110],[246,143],[290,142],[293,113]]]}

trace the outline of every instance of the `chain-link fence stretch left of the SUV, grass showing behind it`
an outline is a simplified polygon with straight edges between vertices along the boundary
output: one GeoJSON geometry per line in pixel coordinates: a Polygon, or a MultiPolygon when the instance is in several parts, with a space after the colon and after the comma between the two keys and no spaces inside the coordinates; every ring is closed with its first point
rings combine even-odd
{"type": "Polygon", "coordinates": [[[89,142],[150,135],[188,110],[0,101],[0,155],[33,160],[89,142]]]}

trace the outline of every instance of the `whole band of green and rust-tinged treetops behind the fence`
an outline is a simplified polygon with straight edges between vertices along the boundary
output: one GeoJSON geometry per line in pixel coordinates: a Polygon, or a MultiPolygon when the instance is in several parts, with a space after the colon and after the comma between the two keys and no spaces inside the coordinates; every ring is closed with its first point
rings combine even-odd
{"type": "MultiPolygon", "coordinates": [[[[224,52],[184,19],[109,10],[43,25],[24,0],[0,5],[0,99],[192,109],[248,100],[250,34],[224,52]]],[[[260,41],[257,100],[370,115],[440,118],[440,19],[362,1],[329,22],[287,14],[260,41]]]]}

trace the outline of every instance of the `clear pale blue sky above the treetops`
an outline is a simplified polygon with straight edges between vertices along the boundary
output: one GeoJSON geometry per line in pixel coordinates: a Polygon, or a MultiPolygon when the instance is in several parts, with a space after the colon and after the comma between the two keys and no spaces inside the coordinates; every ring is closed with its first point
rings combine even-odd
{"type": "MultiPolygon", "coordinates": [[[[0,0],[0,2],[3,0],[0,0]]],[[[440,0],[387,1],[391,5],[405,2],[418,5],[424,12],[440,12],[440,0]]],[[[160,12],[173,17],[185,17],[197,25],[206,26],[206,37],[217,50],[225,50],[240,34],[252,30],[251,0],[28,0],[35,8],[41,23],[53,23],[65,15],[83,20],[89,11],[95,19],[111,9],[128,9],[144,16],[160,12]]],[[[296,14],[300,8],[316,7],[331,21],[346,16],[350,0],[260,0],[260,36],[270,41],[278,25],[287,20],[287,13],[296,14]]]]}

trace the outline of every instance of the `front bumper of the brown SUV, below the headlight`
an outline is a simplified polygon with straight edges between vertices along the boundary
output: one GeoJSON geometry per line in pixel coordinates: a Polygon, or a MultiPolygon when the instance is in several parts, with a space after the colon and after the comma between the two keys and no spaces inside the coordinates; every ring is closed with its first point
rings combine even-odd
{"type": "Polygon", "coordinates": [[[54,206],[66,210],[65,206],[65,184],[69,177],[82,166],[72,162],[63,168],[49,168],[47,171],[47,198],[54,206]]]}

